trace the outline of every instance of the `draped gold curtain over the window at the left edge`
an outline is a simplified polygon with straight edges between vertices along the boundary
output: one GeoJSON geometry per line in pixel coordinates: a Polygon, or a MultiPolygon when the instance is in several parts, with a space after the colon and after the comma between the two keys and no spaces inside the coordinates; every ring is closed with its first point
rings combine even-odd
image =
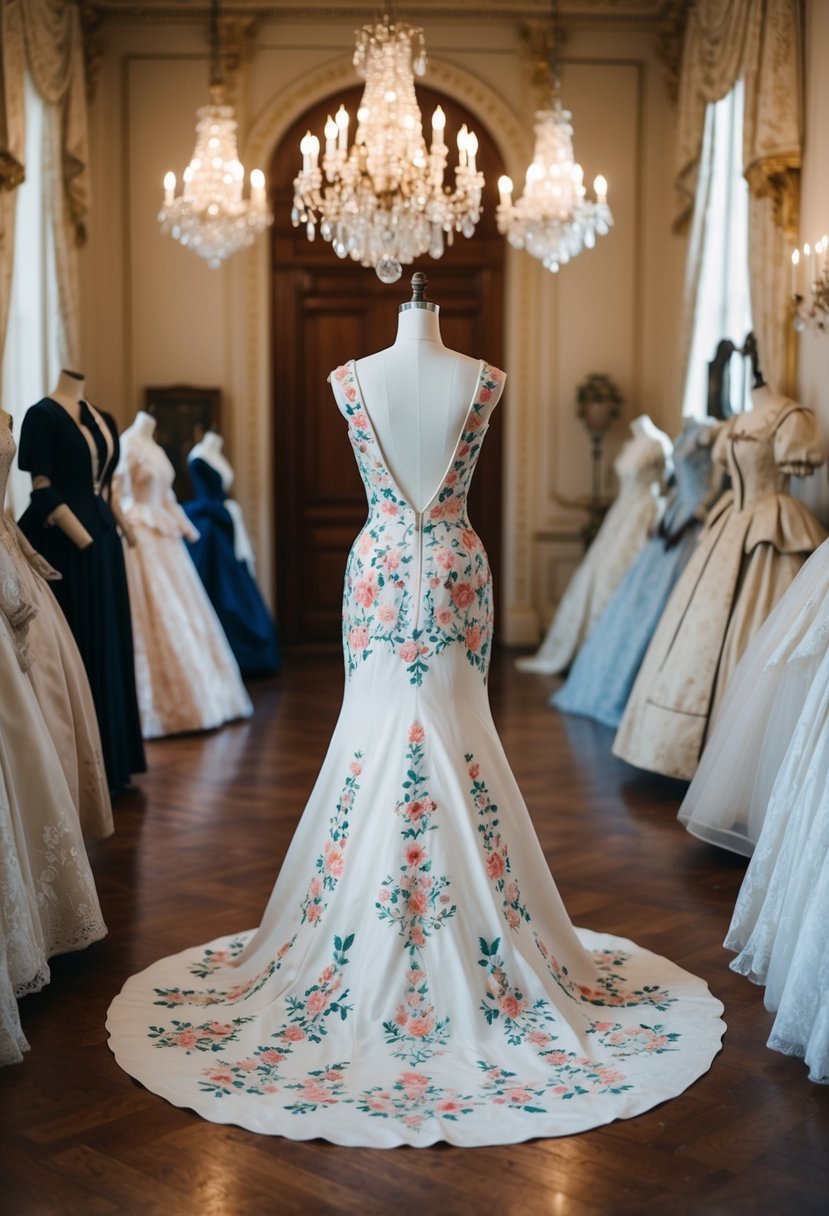
{"type": "Polygon", "coordinates": [[[67,0],[0,0],[0,355],[15,250],[15,204],[24,179],[24,72],[46,103],[44,161],[62,322],[61,358],[80,359],[78,248],[90,203],[80,11],[67,0]]]}

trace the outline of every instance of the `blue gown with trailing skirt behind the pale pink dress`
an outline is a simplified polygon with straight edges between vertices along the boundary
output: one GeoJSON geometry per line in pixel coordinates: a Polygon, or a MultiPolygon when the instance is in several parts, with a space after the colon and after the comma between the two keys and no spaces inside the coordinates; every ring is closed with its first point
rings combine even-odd
{"type": "Polygon", "coordinates": [[[182,506],[199,531],[187,547],[242,674],[267,675],[280,666],[276,625],[248,563],[236,556],[221,475],[198,456],[187,468],[196,497],[182,506]]]}

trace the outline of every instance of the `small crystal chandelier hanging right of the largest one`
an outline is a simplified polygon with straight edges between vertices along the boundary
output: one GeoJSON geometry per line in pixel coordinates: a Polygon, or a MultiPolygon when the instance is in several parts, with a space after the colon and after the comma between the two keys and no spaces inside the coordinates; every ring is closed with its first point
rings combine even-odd
{"type": "MultiPolygon", "coordinates": [[[[558,6],[553,5],[553,55],[558,49],[558,6]]],[[[592,249],[597,236],[613,227],[608,184],[593,181],[596,201],[586,197],[583,170],[573,153],[573,116],[562,108],[558,63],[551,62],[552,105],[536,113],[535,152],[524,193],[513,203],[513,184],[498,178],[498,232],[515,249],[526,249],[556,274],[565,263],[592,249]]]]}

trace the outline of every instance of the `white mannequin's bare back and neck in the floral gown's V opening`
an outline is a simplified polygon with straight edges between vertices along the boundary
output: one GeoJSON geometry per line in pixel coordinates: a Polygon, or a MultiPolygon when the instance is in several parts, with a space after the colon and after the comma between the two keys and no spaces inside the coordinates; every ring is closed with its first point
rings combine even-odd
{"type": "Polygon", "coordinates": [[[394,345],[359,359],[356,373],[380,447],[419,511],[446,472],[481,364],[444,345],[440,310],[423,299],[425,275],[416,274],[412,287],[394,345]]]}

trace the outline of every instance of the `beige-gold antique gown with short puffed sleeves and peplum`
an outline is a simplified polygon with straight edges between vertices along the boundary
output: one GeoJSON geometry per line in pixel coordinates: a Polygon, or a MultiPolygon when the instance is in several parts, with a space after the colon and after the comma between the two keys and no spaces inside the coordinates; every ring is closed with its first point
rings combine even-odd
{"type": "Polygon", "coordinates": [[[631,692],[614,755],[689,781],[746,646],[825,531],[788,492],[823,463],[811,410],[752,392],[714,445],[733,489],[709,513],[631,692]]]}

